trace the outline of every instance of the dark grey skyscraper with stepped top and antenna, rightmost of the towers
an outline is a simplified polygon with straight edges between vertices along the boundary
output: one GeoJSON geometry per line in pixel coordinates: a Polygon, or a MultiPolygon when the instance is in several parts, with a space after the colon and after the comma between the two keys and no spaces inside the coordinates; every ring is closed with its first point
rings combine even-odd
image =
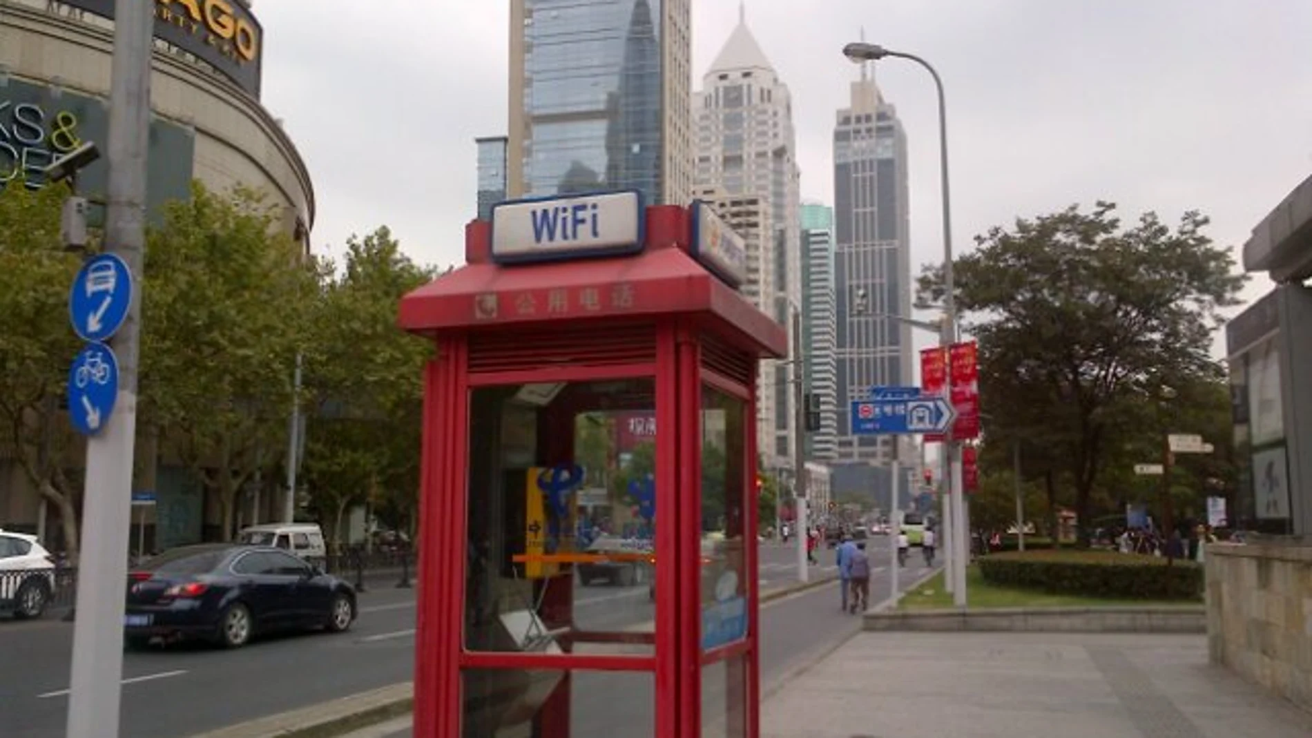
{"type": "MultiPolygon", "coordinates": [[[[871,387],[912,384],[907,134],[869,69],[833,131],[834,298],[840,410],[871,387]]],[[[888,461],[891,437],[853,435],[838,412],[838,457],[888,461]]],[[[905,444],[904,444],[905,447],[905,444]]]]}

